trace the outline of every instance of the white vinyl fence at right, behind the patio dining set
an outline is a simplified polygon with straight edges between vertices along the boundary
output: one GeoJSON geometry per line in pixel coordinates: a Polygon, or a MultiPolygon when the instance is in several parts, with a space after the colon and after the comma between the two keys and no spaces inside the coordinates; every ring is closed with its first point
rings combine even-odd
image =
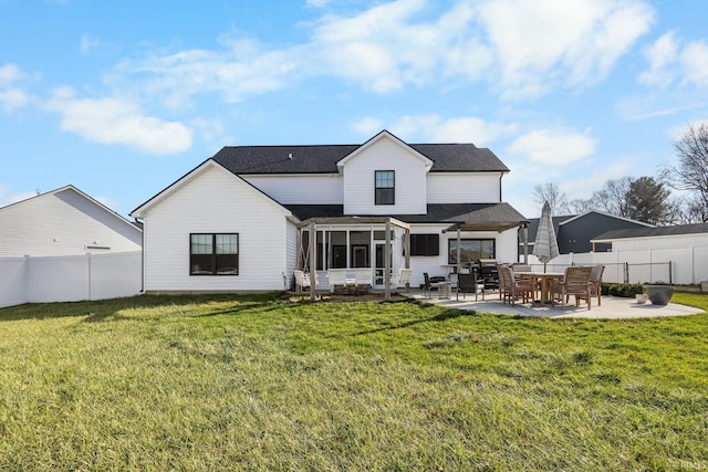
{"type": "MultiPolygon", "coordinates": [[[[543,270],[543,263],[533,255],[529,255],[529,263],[534,270],[543,270]]],[[[708,248],[704,247],[561,254],[546,270],[562,272],[573,264],[604,265],[602,280],[608,283],[693,285],[708,281],[708,248]]]]}

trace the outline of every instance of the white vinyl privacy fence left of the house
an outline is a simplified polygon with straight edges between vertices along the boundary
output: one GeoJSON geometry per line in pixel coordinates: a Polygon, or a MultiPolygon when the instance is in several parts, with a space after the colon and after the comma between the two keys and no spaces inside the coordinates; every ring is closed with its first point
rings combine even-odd
{"type": "Polygon", "coordinates": [[[140,251],[0,258],[0,307],[132,296],[142,277],[140,251]]]}

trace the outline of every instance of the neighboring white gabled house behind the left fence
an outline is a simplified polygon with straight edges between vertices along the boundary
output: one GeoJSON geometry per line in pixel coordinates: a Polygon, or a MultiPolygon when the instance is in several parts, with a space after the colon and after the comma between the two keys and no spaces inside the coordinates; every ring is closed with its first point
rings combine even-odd
{"type": "Polygon", "coordinates": [[[0,210],[0,256],[84,254],[91,245],[139,251],[140,240],[139,229],[72,189],[0,210]]]}

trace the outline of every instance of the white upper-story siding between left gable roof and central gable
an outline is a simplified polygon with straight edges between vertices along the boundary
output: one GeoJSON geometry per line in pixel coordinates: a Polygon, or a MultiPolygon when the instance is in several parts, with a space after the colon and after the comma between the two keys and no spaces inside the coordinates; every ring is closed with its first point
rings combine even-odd
{"type": "Polygon", "coordinates": [[[283,204],[342,204],[343,178],[337,174],[241,176],[283,204]]]}

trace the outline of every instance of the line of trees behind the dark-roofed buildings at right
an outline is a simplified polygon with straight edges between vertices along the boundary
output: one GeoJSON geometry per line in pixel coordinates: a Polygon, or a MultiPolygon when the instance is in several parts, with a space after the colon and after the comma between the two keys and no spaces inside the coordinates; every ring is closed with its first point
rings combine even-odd
{"type": "Polygon", "coordinates": [[[591,198],[569,200],[558,183],[535,186],[537,202],[548,201],[552,214],[596,210],[655,225],[708,222],[708,126],[689,126],[674,143],[676,164],[656,177],[607,180],[591,198]],[[680,191],[673,195],[670,189],[680,191]]]}

